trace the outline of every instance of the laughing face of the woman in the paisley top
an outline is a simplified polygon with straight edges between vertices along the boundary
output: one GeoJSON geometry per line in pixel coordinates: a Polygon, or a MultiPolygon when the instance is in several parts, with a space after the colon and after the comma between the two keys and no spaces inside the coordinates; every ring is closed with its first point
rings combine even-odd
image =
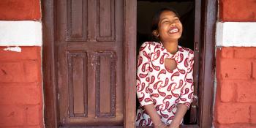
{"type": "Polygon", "coordinates": [[[178,40],[182,34],[182,24],[178,16],[171,11],[164,11],[159,17],[159,38],[162,42],[178,40]]]}

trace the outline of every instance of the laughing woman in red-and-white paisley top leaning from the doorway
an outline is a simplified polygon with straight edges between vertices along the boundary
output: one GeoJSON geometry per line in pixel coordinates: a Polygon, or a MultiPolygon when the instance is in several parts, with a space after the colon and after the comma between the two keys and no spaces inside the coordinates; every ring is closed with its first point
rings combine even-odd
{"type": "Polygon", "coordinates": [[[151,28],[159,42],[144,42],[140,47],[136,125],[178,127],[192,102],[194,53],[178,45],[182,24],[176,11],[159,10],[151,28]]]}

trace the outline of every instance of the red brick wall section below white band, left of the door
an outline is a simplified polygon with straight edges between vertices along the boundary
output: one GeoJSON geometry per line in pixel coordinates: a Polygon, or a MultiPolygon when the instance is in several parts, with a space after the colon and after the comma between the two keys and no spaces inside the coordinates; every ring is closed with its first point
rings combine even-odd
{"type": "Polygon", "coordinates": [[[0,127],[42,127],[41,48],[0,47],[0,127]]]}

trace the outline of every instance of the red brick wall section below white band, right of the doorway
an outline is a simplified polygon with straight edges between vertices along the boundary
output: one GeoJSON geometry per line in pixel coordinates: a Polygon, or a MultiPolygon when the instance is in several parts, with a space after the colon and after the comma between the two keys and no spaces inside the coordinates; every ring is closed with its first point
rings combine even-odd
{"type": "Polygon", "coordinates": [[[256,127],[256,48],[217,48],[216,127],[256,127]]]}

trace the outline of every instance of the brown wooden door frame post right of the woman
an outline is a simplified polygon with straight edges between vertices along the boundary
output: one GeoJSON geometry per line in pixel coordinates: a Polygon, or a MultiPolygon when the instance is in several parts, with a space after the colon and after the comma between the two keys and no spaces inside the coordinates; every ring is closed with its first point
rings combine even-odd
{"type": "Polygon", "coordinates": [[[217,22],[217,0],[201,0],[201,45],[199,72],[198,127],[211,127],[213,121],[214,75],[215,75],[215,31],[217,22]]]}

